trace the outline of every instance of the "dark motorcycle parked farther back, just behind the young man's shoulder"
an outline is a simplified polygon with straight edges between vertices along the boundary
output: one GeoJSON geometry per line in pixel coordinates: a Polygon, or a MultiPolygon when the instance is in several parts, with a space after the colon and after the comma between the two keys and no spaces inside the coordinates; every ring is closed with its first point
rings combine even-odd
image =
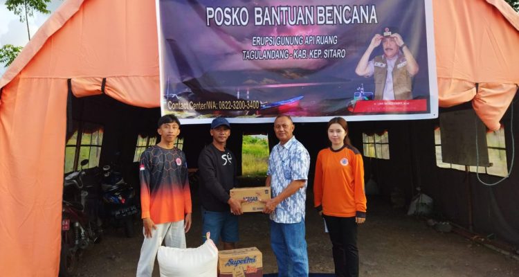
{"type": "Polygon", "coordinates": [[[113,226],[122,226],[127,238],[134,236],[134,215],[138,213],[135,190],[113,166],[103,166],[101,182],[104,218],[113,226]]]}

